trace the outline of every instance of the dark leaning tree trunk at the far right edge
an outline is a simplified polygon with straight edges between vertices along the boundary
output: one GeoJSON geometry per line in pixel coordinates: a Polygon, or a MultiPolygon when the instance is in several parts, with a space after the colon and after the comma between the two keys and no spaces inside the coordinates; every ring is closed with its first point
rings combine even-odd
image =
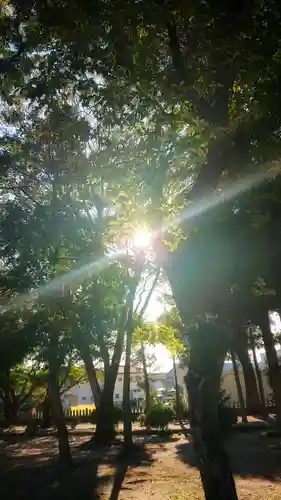
{"type": "Polygon", "coordinates": [[[260,311],[258,324],[262,331],[262,338],[268,361],[269,380],[275,399],[276,422],[278,427],[281,428],[281,367],[279,365],[267,311],[260,311]]]}

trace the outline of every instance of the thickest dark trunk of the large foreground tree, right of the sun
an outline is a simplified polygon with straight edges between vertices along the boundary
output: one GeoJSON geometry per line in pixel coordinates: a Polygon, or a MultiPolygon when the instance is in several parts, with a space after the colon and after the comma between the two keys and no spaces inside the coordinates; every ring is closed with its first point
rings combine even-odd
{"type": "MultiPolygon", "coordinates": [[[[198,252],[195,252],[196,245],[192,248],[184,242],[171,254],[167,254],[161,242],[158,245],[156,251],[160,258],[165,259],[165,271],[183,323],[189,324],[190,314],[193,317],[202,315],[202,304],[205,311],[213,311],[220,292],[217,277],[211,276],[209,280],[209,276],[202,273],[202,262],[198,252]],[[200,263],[201,270],[197,268],[200,263]],[[194,268],[198,269],[196,275],[194,268]]],[[[202,323],[197,318],[195,325],[188,329],[190,359],[185,380],[190,427],[201,480],[207,500],[237,500],[218,415],[220,377],[232,332],[213,322],[202,323]]]]}

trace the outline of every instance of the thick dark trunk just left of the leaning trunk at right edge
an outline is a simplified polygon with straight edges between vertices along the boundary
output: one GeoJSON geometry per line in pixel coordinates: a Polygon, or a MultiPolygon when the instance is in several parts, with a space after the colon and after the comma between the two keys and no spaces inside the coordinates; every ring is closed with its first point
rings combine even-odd
{"type": "Polygon", "coordinates": [[[261,409],[261,402],[254,367],[249,356],[248,336],[246,332],[240,330],[235,333],[233,347],[243,370],[248,414],[259,413],[261,409]]]}

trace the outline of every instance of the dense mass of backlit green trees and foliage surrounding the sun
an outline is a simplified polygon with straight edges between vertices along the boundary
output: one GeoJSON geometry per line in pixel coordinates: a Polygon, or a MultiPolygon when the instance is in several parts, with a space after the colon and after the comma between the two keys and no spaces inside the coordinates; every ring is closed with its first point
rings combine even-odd
{"type": "Polygon", "coordinates": [[[60,455],[70,463],[60,377],[62,366],[79,359],[100,406],[99,437],[109,435],[104,411],[113,411],[125,340],[128,368],[139,282],[161,267],[181,318],[180,330],[166,323],[162,334],[174,357],[188,346],[206,497],[224,498],[224,489],[237,498],[217,402],[223,360],[234,349],[247,403],[260,403],[249,323],[262,333],[281,425],[268,318],[281,303],[279,4],[2,4],[0,386],[7,416],[16,414],[15,369],[31,357],[48,372],[60,455]],[[155,231],[149,255],[131,248],[132,233],[144,226],[155,231]],[[171,328],[180,331],[172,342],[171,328]],[[104,367],[103,390],[95,363],[104,367]]]}

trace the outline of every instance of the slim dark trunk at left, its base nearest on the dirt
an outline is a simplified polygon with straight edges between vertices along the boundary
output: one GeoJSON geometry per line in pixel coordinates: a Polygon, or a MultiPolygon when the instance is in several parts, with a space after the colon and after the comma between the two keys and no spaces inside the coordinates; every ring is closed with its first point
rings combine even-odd
{"type": "Polygon", "coordinates": [[[49,397],[52,419],[57,428],[59,445],[58,471],[67,470],[72,464],[68,432],[64,421],[64,412],[60,397],[59,365],[57,356],[57,340],[52,339],[49,354],[49,397]]]}

